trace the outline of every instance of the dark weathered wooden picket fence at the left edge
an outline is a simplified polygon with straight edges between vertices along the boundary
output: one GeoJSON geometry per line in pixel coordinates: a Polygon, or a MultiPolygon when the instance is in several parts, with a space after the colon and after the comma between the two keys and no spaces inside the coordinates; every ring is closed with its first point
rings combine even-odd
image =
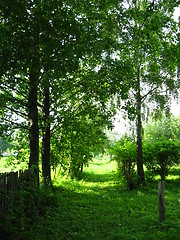
{"type": "Polygon", "coordinates": [[[6,212],[9,204],[14,203],[16,194],[25,185],[31,174],[31,170],[20,170],[0,175],[0,213],[6,212]]]}

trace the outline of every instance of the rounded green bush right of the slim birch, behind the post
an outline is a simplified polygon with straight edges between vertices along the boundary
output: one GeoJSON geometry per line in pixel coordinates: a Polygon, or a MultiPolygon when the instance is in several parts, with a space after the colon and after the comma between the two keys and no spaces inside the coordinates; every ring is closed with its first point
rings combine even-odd
{"type": "Polygon", "coordinates": [[[179,162],[179,117],[162,117],[144,128],[143,159],[148,173],[165,179],[179,162]]]}

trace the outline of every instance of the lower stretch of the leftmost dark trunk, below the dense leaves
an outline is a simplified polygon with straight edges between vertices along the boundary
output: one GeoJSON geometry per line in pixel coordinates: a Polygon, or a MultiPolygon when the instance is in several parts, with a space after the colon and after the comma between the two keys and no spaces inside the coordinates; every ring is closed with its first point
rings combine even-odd
{"type": "Polygon", "coordinates": [[[28,117],[30,140],[29,168],[36,168],[36,174],[39,181],[39,126],[37,108],[37,77],[34,74],[30,74],[29,77],[28,117]]]}

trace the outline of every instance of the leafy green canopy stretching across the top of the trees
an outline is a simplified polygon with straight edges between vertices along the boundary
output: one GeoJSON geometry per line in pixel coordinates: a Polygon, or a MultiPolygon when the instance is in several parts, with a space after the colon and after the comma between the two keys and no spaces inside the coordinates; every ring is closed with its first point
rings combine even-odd
{"type": "MultiPolygon", "coordinates": [[[[114,95],[126,100],[123,107],[132,119],[140,115],[141,107],[133,104],[137,96],[142,102],[148,96],[148,101],[155,99],[163,106],[168,94],[165,96],[162,88],[166,86],[170,93],[175,87],[170,49],[174,49],[177,33],[172,19],[177,5],[166,1],[2,1],[2,129],[7,133],[23,127],[28,136],[27,131],[32,130],[27,121],[32,120],[31,112],[35,113],[34,126],[37,131],[42,129],[43,136],[47,125],[60,132],[67,118],[73,121],[77,112],[83,115],[87,111],[85,105],[89,112],[94,102],[107,110],[107,102],[114,95]],[[32,97],[33,89],[36,97],[32,97]],[[46,116],[45,89],[50,94],[46,116]],[[31,109],[30,100],[36,98],[31,109]]],[[[114,114],[113,108],[109,115],[114,114]]],[[[34,132],[38,134],[37,131],[34,132]]],[[[38,137],[36,146],[30,144],[30,156],[33,149],[34,156],[39,153],[38,137]]],[[[35,136],[32,139],[34,142],[35,136]]]]}

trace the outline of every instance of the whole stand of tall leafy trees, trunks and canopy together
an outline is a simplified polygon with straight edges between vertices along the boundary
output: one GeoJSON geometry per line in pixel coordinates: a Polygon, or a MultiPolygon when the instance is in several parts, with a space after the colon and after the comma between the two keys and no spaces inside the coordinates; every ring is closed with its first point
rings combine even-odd
{"type": "MultiPolygon", "coordinates": [[[[1,1],[0,130],[42,161],[76,175],[117,109],[136,121],[138,182],[144,182],[142,108],[168,110],[178,91],[179,1],[1,1]],[[154,105],[153,105],[154,103],[154,105]]],[[[38,171],[37,171],[38,172],[38,171]]],[[[38,175],[38,174],[37,174],[38,175]]],[[[38,176],[37,176],[38,177],[38,176]]]]}

